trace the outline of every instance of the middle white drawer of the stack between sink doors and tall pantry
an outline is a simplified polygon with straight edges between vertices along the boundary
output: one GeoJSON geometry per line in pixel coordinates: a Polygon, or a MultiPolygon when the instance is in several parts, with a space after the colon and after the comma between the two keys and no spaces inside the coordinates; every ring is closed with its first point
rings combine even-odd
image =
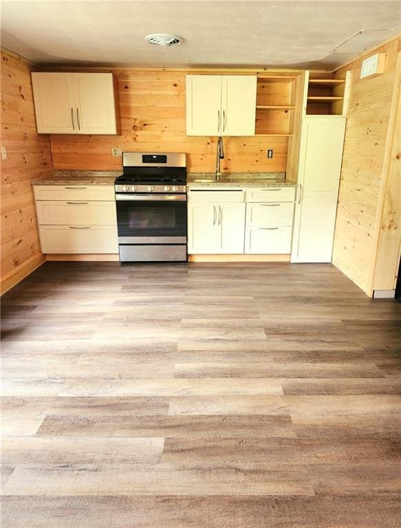
{"type": "Polygon", "coordinates": [[[294,203],[247,203],[246,225],[258,228],[276,228],[281,225],[292,225],[294,203]]]}

